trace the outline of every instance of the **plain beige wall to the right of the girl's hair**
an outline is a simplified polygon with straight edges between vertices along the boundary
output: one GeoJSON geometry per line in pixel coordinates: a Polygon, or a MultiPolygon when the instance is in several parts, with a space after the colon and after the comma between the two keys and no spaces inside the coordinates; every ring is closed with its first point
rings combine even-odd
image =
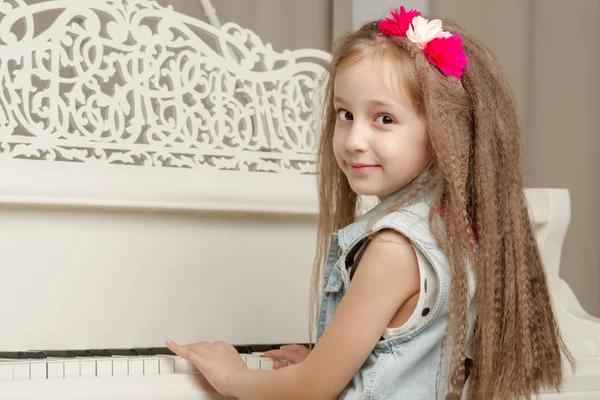
{"type": "Polygon", "coordinates": [[[434,0],[503,64],[523,119],[530,187],[571,193],[561,276],[600,315],[600,1],[434,0]]]}

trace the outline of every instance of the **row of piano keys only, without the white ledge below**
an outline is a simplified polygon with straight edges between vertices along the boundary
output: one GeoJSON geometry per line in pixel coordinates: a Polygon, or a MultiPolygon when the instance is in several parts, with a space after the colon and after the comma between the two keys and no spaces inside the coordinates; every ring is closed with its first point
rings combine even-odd
{"type": "MultiPolygon", "coordinates": [[[[273,369],[262,354],[280,345],[235,346],[249,369],[273,369]]],[[[167,348],[0,352],[0,382],[194,374],[198,370],[167,348]]]]}

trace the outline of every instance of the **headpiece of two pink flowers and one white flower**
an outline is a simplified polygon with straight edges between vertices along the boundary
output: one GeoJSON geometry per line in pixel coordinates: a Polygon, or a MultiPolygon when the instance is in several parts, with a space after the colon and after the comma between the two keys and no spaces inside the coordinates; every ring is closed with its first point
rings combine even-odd
{"type": "Polygon", "coordinates": [[[416,10],[392,11],[392,18],[379,21],[379,32],[390,37],[405,37],[415,43],[445,75],[461,78],[469,59],[462,47],[462,37],[442,29],[439,19],[427,20],[416,10]]]}

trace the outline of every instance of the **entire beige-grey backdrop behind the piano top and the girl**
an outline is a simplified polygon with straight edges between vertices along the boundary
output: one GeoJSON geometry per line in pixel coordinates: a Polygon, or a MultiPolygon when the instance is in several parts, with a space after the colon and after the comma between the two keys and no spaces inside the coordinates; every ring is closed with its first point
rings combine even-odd
{"type": "MultiPolygon", "coordinates": [[[[162,0],[202,17],[193,0],[162,0]]],[[[600,315],[600,0],[214,0],[221,22],[277,50],[332,42],[404,4],[452,18],[500,59],[517,97],[530,187],[564,187],[572,216],[561,275],[600,315]]]]}

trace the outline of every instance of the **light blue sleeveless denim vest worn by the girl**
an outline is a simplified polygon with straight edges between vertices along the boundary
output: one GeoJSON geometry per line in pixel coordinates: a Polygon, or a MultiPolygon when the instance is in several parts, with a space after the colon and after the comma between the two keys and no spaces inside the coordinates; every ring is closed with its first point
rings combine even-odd
{"type": "MultiPolygon", "coordinates": [[[[438,370],[448,319],[450,268],[429,227],[430,201],[427,196],[421,195],[387,215],[370,218],[399,195],[400,192],[390,195],[358,221],[333,234],[323,274],[324,290],[317,340],[321,338],[350,284],[344,260],[348,254],[354,253],[355,247],[360,246],[363,239],[381,229],[394,229],[402,233],[412,242],[415,251],[431,263],[438,278],[437,301],[421,326],[407,335],[379,341],[340,393],[339,400],[432,400],[446,396],[446,392],[442,391],[443,377],[438,370]],[[373,219],[370,230],[367,225],[369,219],[373,219]]],[[[473,299],[474,274],[470,267],[467,271],[470,298],[473,299]]],[[[468,340],[473,331],[475,313],[474,307],[470,307],[468,340]]]]}

